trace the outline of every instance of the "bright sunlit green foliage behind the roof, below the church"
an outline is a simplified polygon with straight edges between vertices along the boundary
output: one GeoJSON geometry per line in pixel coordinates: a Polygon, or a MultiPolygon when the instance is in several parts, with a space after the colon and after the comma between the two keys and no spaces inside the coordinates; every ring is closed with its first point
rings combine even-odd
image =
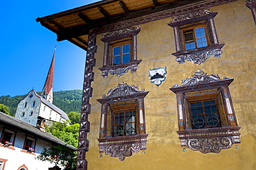
{"type": "Polygon", "coordinates": [[[54,122],[51,127],[46,127],[46,131],[73,147],[77,147],[78,145],[79,124],[68,126],[68,123],[54,122]]]}

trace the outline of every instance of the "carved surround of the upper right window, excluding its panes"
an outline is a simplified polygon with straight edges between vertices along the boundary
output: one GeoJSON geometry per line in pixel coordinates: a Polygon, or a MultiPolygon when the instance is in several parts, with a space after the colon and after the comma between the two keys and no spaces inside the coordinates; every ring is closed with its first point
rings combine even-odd
{"type": "Polygon", "coordinates": [[[172,55],[176,56],[176,61],[179,64],[185,63],[185,60],[188,60],[194,64],[200,65],[212,55],[215,58],[219,58],[221,56],[221,48],[225,44],[219,44],[217,37],[217,32],[213,20],[217,14],[217,12],[209,11],[209,9],[203,9],[172,17],[173,21],[168,23],[168,25],[174,28],[176,52],[172,53],[172,55]],[[198,49],[185,50],[181,38],[181,29],[201,23],[206,23],[207,25],[210,45],[198,49]]]}

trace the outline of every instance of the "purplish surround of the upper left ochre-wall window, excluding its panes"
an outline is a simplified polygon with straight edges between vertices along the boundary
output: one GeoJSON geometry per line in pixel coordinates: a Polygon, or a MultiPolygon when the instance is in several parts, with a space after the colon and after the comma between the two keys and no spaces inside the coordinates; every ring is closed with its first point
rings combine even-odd
{"type": "Polygon", "coordinates": [[[101,76],[107,78],[108,74],[112,74],[120,77],[123,74],[131,70],[131,73],[138,70],[138,64],[142,60],[137,60],[137,34],[140,32],[140,26],[124,28],[121,30],[116,30],[113,32],[108,32],[107,34],[102,34],[101,41],[104,42],[104,56],[103,65],[100,67],[102,71],[101,76]],[[130,38],[129,38],[130,36],[130,38]],[[122,63],[119,65],[111,65],[111,41],[118,41],[118,39],[131,39],[131,62],[122,63]]]}

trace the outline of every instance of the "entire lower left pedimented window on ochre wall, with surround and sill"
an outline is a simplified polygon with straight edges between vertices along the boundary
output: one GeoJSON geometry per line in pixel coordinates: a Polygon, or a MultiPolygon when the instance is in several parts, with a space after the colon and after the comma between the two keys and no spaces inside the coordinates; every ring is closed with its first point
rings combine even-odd
{"type": "Polygon", "coordinates": [[[103,95],[103,98],[98,99],[102,104],[98,139],[100,153],[112,148],[110,156],[122,161],[125,156],[134,153],[134,147],[138,151],[146,149],[144,98],[148,93],[144,89],[139,90],[138,86],[120,83],[118,87],[110,89],[107,96],[103,95]],[[127,145],[124,145],[124,140],[127,145]],[[127,149],[121,154],[114,150],[118,151],[123,147],[127,149]]]}

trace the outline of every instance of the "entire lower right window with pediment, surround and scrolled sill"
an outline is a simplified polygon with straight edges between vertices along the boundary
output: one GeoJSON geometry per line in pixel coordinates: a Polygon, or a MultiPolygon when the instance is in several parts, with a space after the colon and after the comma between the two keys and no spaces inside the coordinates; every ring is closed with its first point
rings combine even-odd
{"type": "Polygon", "coordinates": [[[202,153],[219,153],[240,143],[239,127],[228,85],[234,79],[207,75],[198,70],[182,85],[170,89],[176,94],[181,147],[202,153]],[[204,141],[209,142],[204,142],[204,141]],[[214,145],[214,143],[219,143],[214,145]],[[206,146],[208,145],[208,146],[206,146]]]}

